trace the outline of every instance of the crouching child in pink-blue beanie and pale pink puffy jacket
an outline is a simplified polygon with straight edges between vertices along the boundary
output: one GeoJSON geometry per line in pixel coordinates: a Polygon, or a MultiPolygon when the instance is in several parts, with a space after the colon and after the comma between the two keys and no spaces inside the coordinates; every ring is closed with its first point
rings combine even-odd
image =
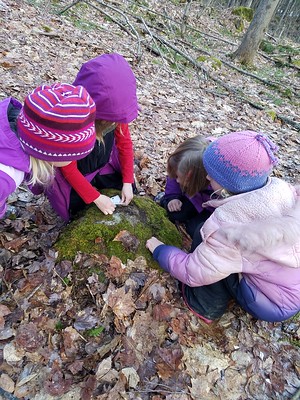
{"type": "Polygon", "coordinates": [[[147,241],[206,323],[221,317],[230,299],[270,322],[300,310],[300,187],[270,177],[276,150],[253,131],[213,141],[203,163],[214,196],[203,206],[215,211],[195,231],[191,253],[155,237],[147,241]]]}

